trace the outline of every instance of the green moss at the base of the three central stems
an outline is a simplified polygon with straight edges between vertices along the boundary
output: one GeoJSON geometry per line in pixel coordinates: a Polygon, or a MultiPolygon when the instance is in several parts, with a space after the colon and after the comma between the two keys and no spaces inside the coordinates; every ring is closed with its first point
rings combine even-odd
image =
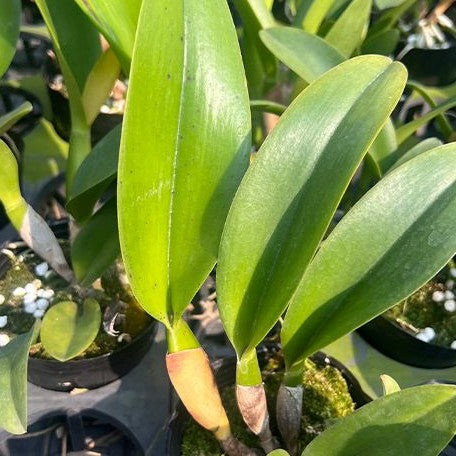
{"type": "MultiPolygon", "coordinates": [[[[272,432],[279,435],[275,423],[275,400],[283,377],[281,355],[271,356],[262,372],[272,432]]],[[[334,420],[353,412],[355,404],[341,373],[331,366],[317,366],[309,361],[303,377],[304,398],[300,442],[304,448],[334,420]]],[[[247,431],[236,404],[234,386],[221,390],[223,404],[230,418],[233,434],[245,444],[258,446],[256,437],[247,431]]],[[[182,456],[220,456],[221,451],[212,434],[193,420],[185,423],[182,456]]]]}

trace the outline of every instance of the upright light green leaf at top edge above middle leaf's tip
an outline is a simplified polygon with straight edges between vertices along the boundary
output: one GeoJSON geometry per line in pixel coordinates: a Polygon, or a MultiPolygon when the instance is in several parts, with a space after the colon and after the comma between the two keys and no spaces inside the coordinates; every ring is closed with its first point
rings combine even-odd
{"type": "Polygon", "coordinates": [[[327,43],[350,57],[366,35],[372,0],[353,0],[326,34],[327,43]]]}

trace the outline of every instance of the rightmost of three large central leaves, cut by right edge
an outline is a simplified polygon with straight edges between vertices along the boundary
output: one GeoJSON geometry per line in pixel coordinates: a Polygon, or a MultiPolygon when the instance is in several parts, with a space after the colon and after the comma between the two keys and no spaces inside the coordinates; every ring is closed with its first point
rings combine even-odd
{"type": "Polygon", "coordinates": [[[324,241],[282,328],[290,366],[409,296],[456,252],[456,145],[384,177],[324,241]]]}

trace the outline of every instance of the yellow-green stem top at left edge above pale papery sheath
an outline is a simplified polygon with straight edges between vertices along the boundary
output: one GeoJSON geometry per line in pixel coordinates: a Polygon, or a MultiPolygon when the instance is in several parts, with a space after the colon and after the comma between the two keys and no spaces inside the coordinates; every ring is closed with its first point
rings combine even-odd
{"type": "Polygon", "coordinates": [[[27,211],[27,203],[19,187],[17,160],[10,148],[0,139],[0,201],[16,229],[20,229],[27,211]]]}

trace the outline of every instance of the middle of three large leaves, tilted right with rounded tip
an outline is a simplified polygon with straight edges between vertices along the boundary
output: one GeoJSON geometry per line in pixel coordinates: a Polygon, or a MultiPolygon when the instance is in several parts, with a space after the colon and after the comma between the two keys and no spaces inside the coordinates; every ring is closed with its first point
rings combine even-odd
{"type": "Polygon", "coordinates": [[[217,273],[238,355],[285,310],[405,80],[386,57],[344,62],[305,89],[263,143],[230,209],[217,273]]]}

